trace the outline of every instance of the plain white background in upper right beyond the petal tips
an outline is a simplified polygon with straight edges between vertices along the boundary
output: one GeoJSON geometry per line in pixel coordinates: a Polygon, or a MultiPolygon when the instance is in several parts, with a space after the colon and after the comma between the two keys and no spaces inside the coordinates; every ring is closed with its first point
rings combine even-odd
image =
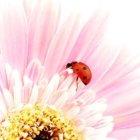
{"type": "Polygon", "coordinates": [[[101,7],[109,11],[110,21],[106,37],[112,43],[120,43],[127,51],[140,59],[140,0],[61,0],[63,17],[70,11],[80,10],[86,20],[101,7]]]}

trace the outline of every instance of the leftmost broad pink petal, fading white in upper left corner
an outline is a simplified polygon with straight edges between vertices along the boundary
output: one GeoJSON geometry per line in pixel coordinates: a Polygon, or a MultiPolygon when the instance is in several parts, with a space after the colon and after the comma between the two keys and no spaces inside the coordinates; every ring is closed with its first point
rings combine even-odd
{"type": "Polygon", "coordinates": [[[6,63],[23,72],[27,63],[27,24],[21,1],[0,1],[0,50],[6,63]]]}

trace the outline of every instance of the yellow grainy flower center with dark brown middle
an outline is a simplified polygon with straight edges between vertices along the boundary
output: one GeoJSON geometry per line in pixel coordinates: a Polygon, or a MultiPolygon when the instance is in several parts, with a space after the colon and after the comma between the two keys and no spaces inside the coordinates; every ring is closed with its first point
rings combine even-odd
{"type": "Polygon", "coordinates": [[[24,106],[10,112],[0,126],[2,140],[81,140],[74,123],[47,106],[24,106]]]}

